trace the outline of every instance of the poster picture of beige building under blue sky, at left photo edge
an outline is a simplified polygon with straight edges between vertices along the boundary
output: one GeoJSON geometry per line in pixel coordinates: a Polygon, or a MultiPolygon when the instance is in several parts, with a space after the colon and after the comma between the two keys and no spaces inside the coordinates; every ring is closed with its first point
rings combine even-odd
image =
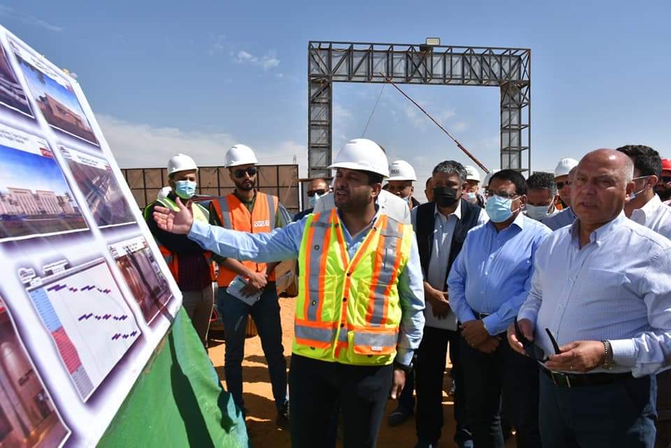
{"type": "Polygon", "coordinates": [[[0,241],[88,229],[43,138],[0,124],[0,241]]]}

